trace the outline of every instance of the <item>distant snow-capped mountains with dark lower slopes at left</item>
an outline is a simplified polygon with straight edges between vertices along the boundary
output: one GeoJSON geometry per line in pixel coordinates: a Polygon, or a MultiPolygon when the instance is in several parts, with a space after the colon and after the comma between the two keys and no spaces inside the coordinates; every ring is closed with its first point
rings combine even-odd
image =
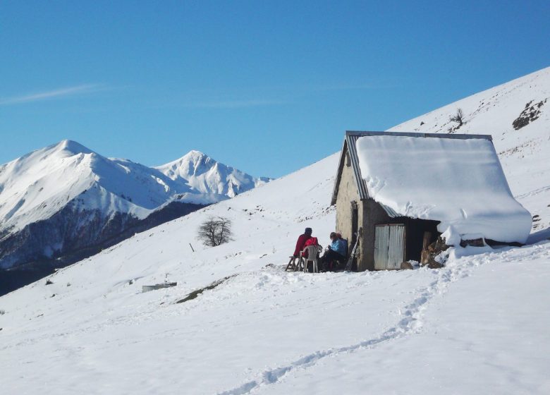
{"type": "Polygon", "coordinates": [[[63,140],[0,166],[0,267],[120,241],[167,205],[186,214],[267,181],[197,151],[152,169],[63,140]]]}

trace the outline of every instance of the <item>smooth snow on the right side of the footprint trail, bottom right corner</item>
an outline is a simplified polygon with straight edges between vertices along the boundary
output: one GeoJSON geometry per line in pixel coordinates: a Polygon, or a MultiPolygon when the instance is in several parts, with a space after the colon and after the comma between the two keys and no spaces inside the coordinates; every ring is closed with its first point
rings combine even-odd
{"type": "Polygon", "coordinates": [[[257,393],[547,394],[549,259],[546,244],[452,261],[415,289],[386,336],[295,366],[257,393]]]}

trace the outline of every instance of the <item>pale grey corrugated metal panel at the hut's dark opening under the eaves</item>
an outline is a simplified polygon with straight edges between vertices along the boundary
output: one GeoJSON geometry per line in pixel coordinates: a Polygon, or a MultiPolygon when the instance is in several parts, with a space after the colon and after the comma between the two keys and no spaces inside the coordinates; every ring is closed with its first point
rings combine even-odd
{"type": "Polygon", "coordinates": [[[405,261],[405,225],[377,225],[374,232],[374,269],[401,269],[405,261]]]}

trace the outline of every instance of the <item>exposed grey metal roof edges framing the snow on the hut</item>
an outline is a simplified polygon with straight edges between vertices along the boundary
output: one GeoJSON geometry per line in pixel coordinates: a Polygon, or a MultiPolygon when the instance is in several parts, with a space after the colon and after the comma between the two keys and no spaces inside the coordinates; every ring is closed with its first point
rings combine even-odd
{"type": "MultiPolygon", "coordinates": [[[[340,183],[340,178],[342,176],[343,166],[346,162],[346,151],[349,152],[351,167],[353,169],[353,175],[355,176],[355,184],[357,186],[357,191],[359,192],[359,197],[361,200],[366,200],[369,198],[369,190],[367,188],[367,182],[365,178],[361,175],[361,170],[359,167],[359,158],[357,155],[357,149],[355,148],[355,142],[357,139],[364,136],[375,136],[375,135],[391,135],[398,137],[417,137],[417,138],[449,138],[456,140],[469,140],[474,138],[481,138],[484,140],[493,141],[491,135],[464,135],[464,134],[446,134],[446,133],[401,133],[401,132],[359,132],[359,131],[346,131],[346,138],[343,142],[342,152],[340,154],[340,162],[338,163],[338,174],[336,174],[336,180],[334,181],[334,190],[332,193],[331,205],[336,204],[336,199],[338,197],[338,183],[340,183]]],[[[381,205],[386,213],[390,217],[402,217],[402,215],[393,211],[391,207],[381,205]]]]}

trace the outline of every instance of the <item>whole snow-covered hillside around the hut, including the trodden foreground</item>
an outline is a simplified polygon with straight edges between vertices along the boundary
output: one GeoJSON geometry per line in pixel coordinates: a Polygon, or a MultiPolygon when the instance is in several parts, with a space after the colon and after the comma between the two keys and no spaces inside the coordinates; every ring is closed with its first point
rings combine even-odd
{"type": "MultiPolygon", "coordinates": [[[[548,75],[546,69],[499,87],[498,103],[484,111],[487,125],[491,114],[495,124],[504,116],[517,118],[515,107],[508,109],[520,102],[513,96],[523,92],[526,80],[547,91],[548,75]]],[[[466,102],[460,102],[466,122],[458,132],[469,123],[482,126],[466,102]]],[[[550,134],[545,105],[539,118],[520,130],[501,135],[477,130],[492,133],[495,143],[503,138],[500,152],[522,147],[523,161],[501,153],[503,160],[511,157],[504,170],[518,200],[541,215],[549,204],[544,188],[550,185],[550,151],[523,146],[518,133],[545,144],[550,134]],[[530,181],[520,179],[530,174],[530,181]]],[[[457,107],[433,111],[410,127],[420,127],[420,120],[441,126],[457,107]]],[[[4,390],[549,393],[547,221],[539,221],[523,248],[452,248],[443,269],[284,272],[306,226],[323,245],[329,241],[337,163],[338,154],[331,155],[262,188],[138,233],[59,270],[48,282],[2,296],[4,390]],[[197,227],[210,216],[233,221],[234,241],[200,245],[197,227]],[[142,286],[163,281],[177,285],[141,292],[142,286]]]]}

